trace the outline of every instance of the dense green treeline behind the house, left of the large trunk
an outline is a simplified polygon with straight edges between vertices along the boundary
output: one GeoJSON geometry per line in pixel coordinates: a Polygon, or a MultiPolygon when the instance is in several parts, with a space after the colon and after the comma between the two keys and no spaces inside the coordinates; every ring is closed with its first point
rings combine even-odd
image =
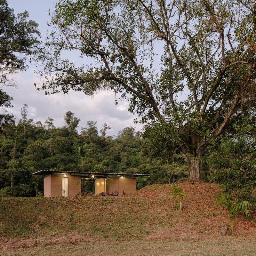
{"type": "Polygon", "coordinates": [[[24,105],[17,124],[13,119],[2,125],[0,136],[0,195],[39,195],[43,177],[32,176],[38,170],[148,173],[139,178],[137,186],[171,183],[186,179],[188,166],[181,155],[173,162],[163,163],[152,157],[149,141],[132,127],[120,131],[116,138],[107,136],[111,129],[103,124],[100,132],[96,122],[88,121],[78,134],[79,119],[72,112],[64,116],[64,127],[54,127],[47,118],[34,123],[27,118],[24,105]]]}

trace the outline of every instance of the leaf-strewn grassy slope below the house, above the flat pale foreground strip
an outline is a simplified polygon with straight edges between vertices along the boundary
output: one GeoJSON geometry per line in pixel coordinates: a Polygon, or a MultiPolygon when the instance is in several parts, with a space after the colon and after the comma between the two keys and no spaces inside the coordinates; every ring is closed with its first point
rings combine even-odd
{"type": "MultiPolygon", "coordinates": [[[[0,249],[94,241],[223,239],[218,232],[222,225],[229,225],[229,219],[226,209],[214,206],[218,186],[179,185],[186,192],[182,213],[173,209],[169,184],[147,186],[128,197],[0,198],[0,249]]],[[[254,236],[255,221],[255,215],[251,221],[239,217],[235,237],[254,236]]]]}

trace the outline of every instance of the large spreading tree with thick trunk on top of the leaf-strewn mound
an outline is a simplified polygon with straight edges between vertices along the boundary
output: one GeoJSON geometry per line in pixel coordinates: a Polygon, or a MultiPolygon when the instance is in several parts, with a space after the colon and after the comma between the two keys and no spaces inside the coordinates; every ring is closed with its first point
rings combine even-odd
{"type": "Polygon", "coordinates": [[[255,12],[251,0],[61,0],[36,57],[41,88],[119,93],[200,181],[204,150],[255,107],[255,12]]]}

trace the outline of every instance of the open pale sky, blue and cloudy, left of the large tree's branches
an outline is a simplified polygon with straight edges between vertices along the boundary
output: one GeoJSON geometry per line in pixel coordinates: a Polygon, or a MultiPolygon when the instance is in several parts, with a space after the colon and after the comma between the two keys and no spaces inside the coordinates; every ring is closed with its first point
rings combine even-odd
{"type": "MultiPolygon", "coordinates": [[[[47,36],[47,21],[50,21],[48,10],[54,10],[56,1],[7,0],[7,2],[16,14],[25,10],[28,11],[29,19],[38,23],[41,40],[43,41],[47,36]]],[[[37,91],[33,85],[39,82],[34,69],[35,66],[30,65],[26,71],[13,75],[16,80],[16,88],[3,88],[8,95],[13,97],[13,108],[8,109],[8,112],[14,114],[16,121],[21,116],[20,111],[23,104],[27,104],[29,119],[43,123],[47,117],[51,117],[54,119],[56,127],[64,125],[63,117],[67,111],[71,111],[76,117],[80,118],[79,128],[86,127],[87,121],[97,121],[99,129],[104,123],[111,127],[108,135],[117,135],[118,131],[128,126],[136,127],[136,130],[142,129],[142,125],[133,123],[134,115],[127,110],[128,102],[119,101],[117,105],[114,104],[116,96],[112,91],[100,91],[93,97],[74,91],[65,95],[60,93],[46,96],[43,91],[37,91]]]]}

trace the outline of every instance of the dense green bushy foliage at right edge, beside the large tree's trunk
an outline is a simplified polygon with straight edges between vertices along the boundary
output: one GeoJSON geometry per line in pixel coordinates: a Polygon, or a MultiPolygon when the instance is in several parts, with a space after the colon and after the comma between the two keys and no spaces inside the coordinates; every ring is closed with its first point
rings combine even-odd
{"type": "Polygon", "coordinates": [[[222,137],[206,156],[212,181],[221,184],[231,196],[249,200],[256,188],[256,136],[253,126],[234,125],[235,136],[222,137]]]}

